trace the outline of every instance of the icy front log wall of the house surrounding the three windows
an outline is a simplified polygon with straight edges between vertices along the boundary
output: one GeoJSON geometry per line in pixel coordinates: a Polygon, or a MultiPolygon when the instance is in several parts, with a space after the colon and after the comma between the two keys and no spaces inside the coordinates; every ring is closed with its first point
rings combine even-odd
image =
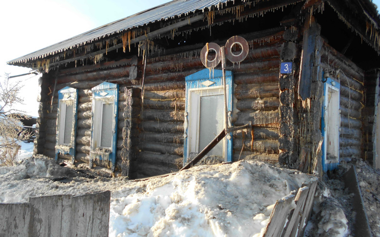
{"type": "MultiPolygon", "coordinates": [[[[279,27],[243,35],[249,44],[247,58],[240,65],[232,65],[230,62],[227,64],[226,70],[232,71],[235,83],[233,93],[237,110],[232,116],[233,122],[239,126],[251,121],[253,125],[252,132],[244,137],[242,133],[234,135],[234,161],[239,159],[242,146],[244,147],[240,159],[256,159],[270,163],[278,161],[280,124],[278,78],[284,33],[284,28],[279,27]]],[[[216,42],[223,45],[228,38],[229,36],[226,36],[225,39],[216,42]]],[[[54,157],[57,91],[70,86],[78,89],[79,94],[76,161],[89,163],[91,88],[108,81],[120,86],[116,168],[120,171],[121,167],[126,167],[126,162],[122,165],[123,157],[125,159],[126,153],[134,149],[133,162],[131,160],[131,163],[128,163],[130,167],[128,170],[133,170],[133,173],[137,168],[142,176],[177,171],[183,163],[185,76],[204,69],[199,55],[202,47],[203,45],[194,45],[186,52],[148,56],[143,99],[140,93],[133,92],[133,99],[130,100],[131,108],[134,108],[131,121],[141,120],[132,123],[135,130],[131,133],[130,141],[127,141],[126,133],[130,122],[126,121],[129,115],[125,113],[128,107],[126,100],[128,96],[125,91],[130,90],[128,88],[141,87],[144,66],[141,58],[133,62],[132,59],[122,59],[94,66],[58,70],[58,73],[54,70],[45,73],[41,81],[43,99],[39,113],[43,122],[39,124],[37,153],[54,157]],[[137,69],[132,70],[131,64],[137,65],[137,69]],[[132,77],[134,79],[130,79],[131,72],[135,75],[132,77]],[[53,92],[50,94],[49,92],[53,91],[56,77],[55,97],[50,111],[53,92]],[[140,103],[143,103],[143,109],[140,103]],[[138,128],[135,128],[137,126],[138,128]]],[[[59,158],[70,159],[67,155],[60,155],[59,158]]],[[[133,177],[136,177],[135,173],[133,177]]]]}

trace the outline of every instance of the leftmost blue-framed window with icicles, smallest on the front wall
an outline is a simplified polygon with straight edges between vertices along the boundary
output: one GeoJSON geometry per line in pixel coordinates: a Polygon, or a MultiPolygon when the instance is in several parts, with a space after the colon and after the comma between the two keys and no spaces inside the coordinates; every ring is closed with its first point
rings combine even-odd
{"type": "Polygon", "coordinates": [[[58,154],[70,154],[75,162],[77,106],[78,90],[65,87],[58,91],[56,160],[58,154]]]}

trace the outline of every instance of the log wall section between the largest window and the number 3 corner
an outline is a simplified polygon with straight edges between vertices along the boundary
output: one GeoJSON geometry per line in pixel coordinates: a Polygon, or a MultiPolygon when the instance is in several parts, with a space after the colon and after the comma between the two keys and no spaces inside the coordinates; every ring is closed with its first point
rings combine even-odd
{"type": "Polygon", "coordinates": [[[252,122],[248,134],[237,133],[233,140],[233,161],[255,159],[277,163],[279,158],[280,90],[279,65],[284,32],[271,43],[252,44],[242,65],[246,70],[231,69],[234,75],[234,95],[239,110],[235,125],[252,122]],[[258,63],[250,67],[250,63],[258,63]]]}

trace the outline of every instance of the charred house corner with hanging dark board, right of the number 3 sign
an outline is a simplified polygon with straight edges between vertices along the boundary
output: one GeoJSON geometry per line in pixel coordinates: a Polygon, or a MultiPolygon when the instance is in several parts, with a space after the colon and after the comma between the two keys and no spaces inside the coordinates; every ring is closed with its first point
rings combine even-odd
{"type": "Polygon", "coordinates": [[[288,165],[303,172],[312,173],[315,168],[322,175],[321,152],[318,146],[322,140],[321,114],[323,97],[321,48],[323,39],[320,36],[321,26],[308,15],[301,27],[302,57],[298,69],[298,88],[296,96],[296,156],[290,156],[288,165]],[[304,100],[303,100],[304,99],[304,100]],[[318,162],[319,161],[319,162],[318,162]],[[315,164],[319,164],[315,167],[315,164]]]}

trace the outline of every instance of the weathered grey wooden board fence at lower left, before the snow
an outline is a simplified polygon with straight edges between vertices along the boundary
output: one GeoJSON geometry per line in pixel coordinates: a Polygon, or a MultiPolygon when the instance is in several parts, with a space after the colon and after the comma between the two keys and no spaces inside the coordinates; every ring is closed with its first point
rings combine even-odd
{"type": "Polygon", "coordinates": [[[1,237],[107,237],[111,192],[0,203],[1,237]]]}

